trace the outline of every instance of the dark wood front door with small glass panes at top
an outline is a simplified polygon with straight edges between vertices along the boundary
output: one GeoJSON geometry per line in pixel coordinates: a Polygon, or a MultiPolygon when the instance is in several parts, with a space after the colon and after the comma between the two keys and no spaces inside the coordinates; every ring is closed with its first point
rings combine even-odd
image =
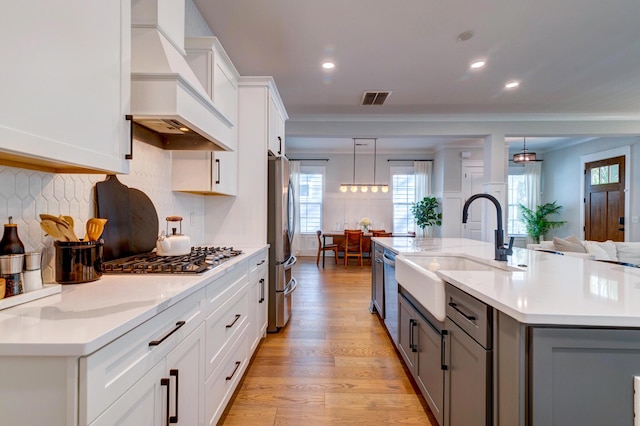
{"type": "Polygon", "coordinates": [[[624,156],[585,164],[585,239],[624,241],[624,156]]]}

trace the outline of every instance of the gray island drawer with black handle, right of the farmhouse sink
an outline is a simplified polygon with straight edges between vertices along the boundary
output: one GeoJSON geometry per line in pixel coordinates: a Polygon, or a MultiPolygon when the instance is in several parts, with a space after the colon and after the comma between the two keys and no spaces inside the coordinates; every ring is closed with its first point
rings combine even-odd
{"type": "Polygon", "coordinates": [[[447,284],[447,316],[476,342],[491,349],[491,306],[447,284]]]}

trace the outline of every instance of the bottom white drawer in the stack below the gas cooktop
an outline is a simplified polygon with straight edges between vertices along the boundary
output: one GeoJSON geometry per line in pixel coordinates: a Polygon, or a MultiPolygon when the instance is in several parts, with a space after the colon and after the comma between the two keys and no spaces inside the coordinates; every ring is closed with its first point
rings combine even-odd
{"type": "Polygon", "coordinates": [[[220,419],[233,391],[249,363],[249,342],[246,325],[241,335],[216,366],[205,383],[205,424],[214,425],[220,419]]]}

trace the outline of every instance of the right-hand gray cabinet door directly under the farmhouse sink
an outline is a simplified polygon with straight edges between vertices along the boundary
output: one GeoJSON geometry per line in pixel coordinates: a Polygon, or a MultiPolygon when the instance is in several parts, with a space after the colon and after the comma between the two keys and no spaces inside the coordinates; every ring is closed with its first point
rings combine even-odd
{"type": "Polygon", "coordinates": [[[424,319],[416,316],[416,326],[414,327],[414,340],[417,340],[418,346],[416,382],[439,424],[442,424],[444,409],[441,339],[440,333],[424,319]]]}

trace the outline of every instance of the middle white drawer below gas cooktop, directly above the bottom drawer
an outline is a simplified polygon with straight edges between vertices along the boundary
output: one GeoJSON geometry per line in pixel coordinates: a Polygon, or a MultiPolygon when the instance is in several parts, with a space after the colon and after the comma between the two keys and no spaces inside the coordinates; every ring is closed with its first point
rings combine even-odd
{"type": "Polygon", "coordinates": [[[206,377],[215,370],[225,349],[249,322],[248,284],[241,287],[206,321],[206,377]]]}

